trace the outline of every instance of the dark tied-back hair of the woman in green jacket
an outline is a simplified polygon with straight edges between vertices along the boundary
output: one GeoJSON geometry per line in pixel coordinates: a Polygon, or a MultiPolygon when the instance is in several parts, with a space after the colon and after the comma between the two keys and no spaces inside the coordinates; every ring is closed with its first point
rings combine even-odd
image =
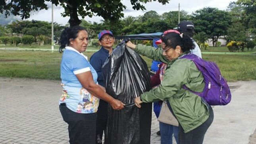
{"type": "Polygon", "coordinates": [[[166,46],[170,48],[176,48],[176,46],[180,46],[183,52],[190,51],[195,48],[195,45],[192,39],[188,35],[179,35],[177,33],[167,33],[162,36],[162,41],[166,44],[166,46]]]}

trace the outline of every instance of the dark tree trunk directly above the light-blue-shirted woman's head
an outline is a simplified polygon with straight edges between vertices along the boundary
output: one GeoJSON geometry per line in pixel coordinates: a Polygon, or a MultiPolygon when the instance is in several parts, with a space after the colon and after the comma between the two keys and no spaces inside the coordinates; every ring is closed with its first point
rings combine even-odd
{"type": "Polygon", "coordinates": [[[77,15],[77,2],[75,2],[75,0],[68,0],[67,7],[70,11],[69,27],[80,25],[81,20],[77,15]]]}

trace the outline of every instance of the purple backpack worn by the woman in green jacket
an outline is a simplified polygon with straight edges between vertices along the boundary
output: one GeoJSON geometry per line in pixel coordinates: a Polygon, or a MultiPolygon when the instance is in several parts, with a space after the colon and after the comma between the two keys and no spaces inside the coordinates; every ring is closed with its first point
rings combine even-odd
{"type": "Polygon", "coordinates": [[[194,92],[183,85],[185,90],[190,90],[194,94],[204,98],[210,105],[226,105],[231,101],[231,92],[227,81],[222,77],[219,67],[212,61],[205,61],[194,54],[187,54],[181,58],[194,61],[194,64],[201,71],[204,77],[203,92],[194,92]]]}

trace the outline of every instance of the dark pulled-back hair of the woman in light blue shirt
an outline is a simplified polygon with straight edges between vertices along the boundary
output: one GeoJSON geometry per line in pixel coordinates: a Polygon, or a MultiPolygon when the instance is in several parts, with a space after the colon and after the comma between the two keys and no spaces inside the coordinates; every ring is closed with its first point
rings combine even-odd
{"type": "Polygon", "coordinates": [[[74,26],[74,27],[66,27],[60,36],[60,49],[59,52],[62,53],[65,46],[69,46],[69,39],[70,38],[77,38],[77,35],[79,31],[86,31],[85,28],[80,26],[74,26]]]}

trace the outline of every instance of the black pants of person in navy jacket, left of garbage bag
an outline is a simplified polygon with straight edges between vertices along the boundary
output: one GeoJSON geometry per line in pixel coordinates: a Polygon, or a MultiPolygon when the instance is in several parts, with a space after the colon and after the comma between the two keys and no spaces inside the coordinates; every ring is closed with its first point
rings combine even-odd
{"type": "Polygon", "coordinates": [[[108,121],[108,103],[104,100],[100,100],[100,104],[97,111],[96,122],[96,144],[102,144],[103,132],[106,136],[106,127],[108,121]]]}

